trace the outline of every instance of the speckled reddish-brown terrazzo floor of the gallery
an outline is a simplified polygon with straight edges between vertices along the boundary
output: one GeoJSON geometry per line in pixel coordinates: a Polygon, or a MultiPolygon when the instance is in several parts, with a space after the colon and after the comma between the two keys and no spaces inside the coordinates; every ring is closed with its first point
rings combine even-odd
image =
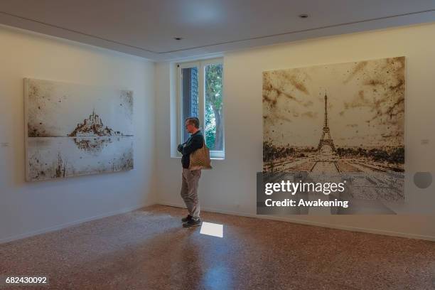
{"type": "Polygon", "coordinates": [[[202,213],[223,237],[181,227],[182,208],[135,210],[0,245],[0,289],[435,289],[435,242],[202,213]]]}

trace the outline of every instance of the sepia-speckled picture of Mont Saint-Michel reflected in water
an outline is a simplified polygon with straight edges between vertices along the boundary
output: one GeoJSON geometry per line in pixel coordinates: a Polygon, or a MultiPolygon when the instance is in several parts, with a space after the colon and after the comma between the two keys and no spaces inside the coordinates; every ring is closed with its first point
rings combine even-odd
{"type": "Polygon", "coordinates": [[[25,79],[26,180],[133,169],[133,92],[25,79]]]}

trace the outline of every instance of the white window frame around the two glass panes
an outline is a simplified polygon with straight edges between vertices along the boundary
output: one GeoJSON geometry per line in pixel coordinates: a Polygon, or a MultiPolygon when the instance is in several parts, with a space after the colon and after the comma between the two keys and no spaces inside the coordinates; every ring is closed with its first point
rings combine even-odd
{"type": "MultiPolygon", "coordinates": [[[[183,75],[181,74],[183,68],[198,68],[198,118],[200,119],[200,128],[203,130],[205,136],[205,66],[207,65],[222,65],[222,98],[224,98],[224,81],[223,81],[223,58],[212,58],[205,60],[194,60],[184,63],[177,63],[177,87],[176,87],[176,100],[177,100],[177,144],[181,144],[183,140],[184,119],[183,119],[183,75]]],[[[225,99],[223,100],[222,110],[225,107],[225,99]]],[[[211,159],[225,159],[225,114],[222,118],[222,151],[210,150],[211,159]]],[[[177,151],[177,156],[181,154],[177,151]]]]}

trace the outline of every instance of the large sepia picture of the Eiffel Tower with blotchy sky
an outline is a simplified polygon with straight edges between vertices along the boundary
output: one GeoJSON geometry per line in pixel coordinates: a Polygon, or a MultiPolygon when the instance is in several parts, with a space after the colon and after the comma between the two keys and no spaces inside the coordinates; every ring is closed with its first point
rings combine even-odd
{"type": "Polygon", "coordinates": [[[339,176],[404,200],[405,58],[263,73],[263,170],[339,176]]]}

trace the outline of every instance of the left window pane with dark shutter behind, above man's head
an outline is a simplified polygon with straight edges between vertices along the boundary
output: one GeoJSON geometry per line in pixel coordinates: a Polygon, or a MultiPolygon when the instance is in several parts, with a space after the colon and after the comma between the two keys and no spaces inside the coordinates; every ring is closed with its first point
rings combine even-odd
{"type": "Polygon", "coordinates": [[[189,134],[184,128],[184,120],[188,117],[199,117],[198,106],[198,68],[181,69],[181,114],[182,114],[182,141],[186,142],[189,134]]]}

